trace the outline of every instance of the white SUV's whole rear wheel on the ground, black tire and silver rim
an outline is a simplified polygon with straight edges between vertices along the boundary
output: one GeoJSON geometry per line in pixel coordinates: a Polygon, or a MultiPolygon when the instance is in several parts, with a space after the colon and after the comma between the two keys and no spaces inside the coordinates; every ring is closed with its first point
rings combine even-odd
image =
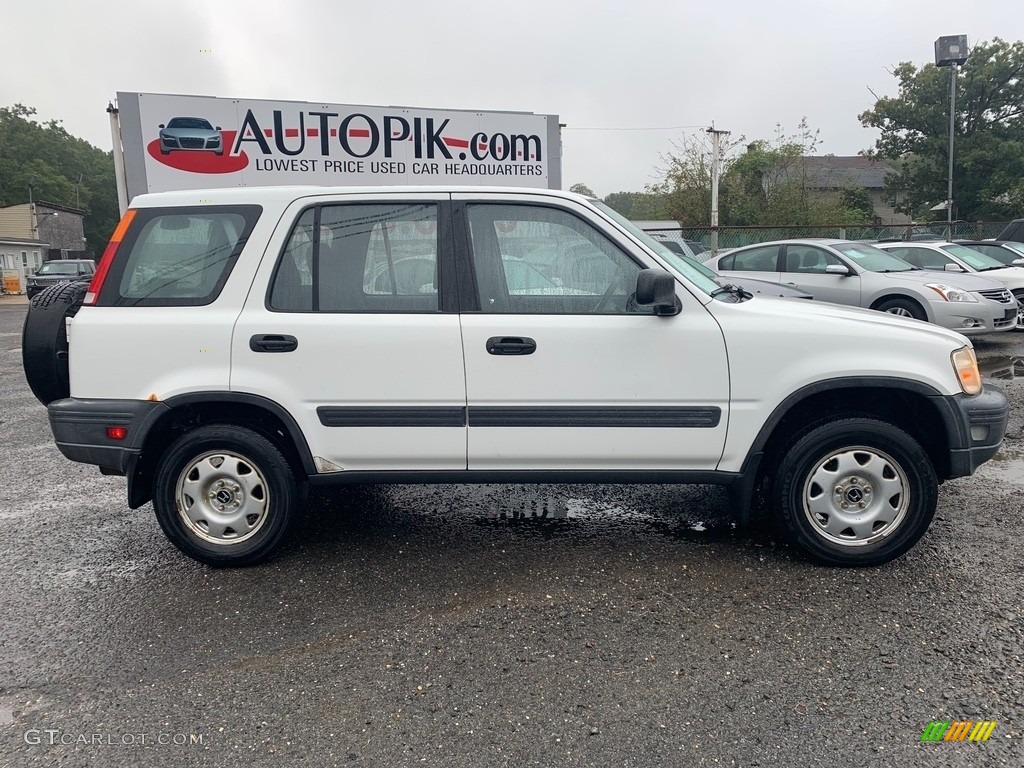
{"type": "Polygon", "coordinates": [[[268,558],[297,517],[300,499],[281,451],[230,424],[199,427],[171,443],[153,486],[164,534],[207,565],[252,565],[268,558]]]}

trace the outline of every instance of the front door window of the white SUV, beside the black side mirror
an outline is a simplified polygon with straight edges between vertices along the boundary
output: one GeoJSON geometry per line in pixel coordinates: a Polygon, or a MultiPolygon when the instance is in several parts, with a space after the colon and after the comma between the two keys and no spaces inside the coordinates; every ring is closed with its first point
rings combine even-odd
{"type": "Polygon", "coordinates": [[[470,205],[484,312],[650,313],[633,300],[641,266],[572,214],[528,205],[470,205]]]}

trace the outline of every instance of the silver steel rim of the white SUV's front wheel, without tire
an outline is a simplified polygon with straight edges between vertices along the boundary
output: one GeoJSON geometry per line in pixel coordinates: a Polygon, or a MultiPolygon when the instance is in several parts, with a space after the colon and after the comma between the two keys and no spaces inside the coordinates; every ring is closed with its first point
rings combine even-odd
{"type": "Polygon", "coordinates": [[[889,456],[869,447],[829,454],[804,483],[804,514],[834,544],[863,547],[892,535],[906,517],[909,482],[889,456]]]}

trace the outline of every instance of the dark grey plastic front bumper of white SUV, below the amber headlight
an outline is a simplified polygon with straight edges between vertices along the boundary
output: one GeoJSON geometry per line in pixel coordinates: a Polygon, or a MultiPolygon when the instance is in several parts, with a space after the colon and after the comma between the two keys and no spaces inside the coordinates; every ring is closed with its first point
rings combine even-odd
{"type": "Polygon", "coordinates": [[[942,414],[949,440],[947,478],[974,474],[1002,442],[1010,414],[1006,394],[986,384],[981,394],[936,395],[932,400],[942,414]]]}

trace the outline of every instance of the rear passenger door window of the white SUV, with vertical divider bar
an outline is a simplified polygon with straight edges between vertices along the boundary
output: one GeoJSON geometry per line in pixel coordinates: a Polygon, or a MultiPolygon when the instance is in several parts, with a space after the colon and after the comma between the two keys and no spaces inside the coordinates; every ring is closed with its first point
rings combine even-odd
{"type": "Polygon", "coordinates": [[[270,289],[281,311],[429,312],[437,291],[437,207],[328,205],[305,211],[270,289]]]}

